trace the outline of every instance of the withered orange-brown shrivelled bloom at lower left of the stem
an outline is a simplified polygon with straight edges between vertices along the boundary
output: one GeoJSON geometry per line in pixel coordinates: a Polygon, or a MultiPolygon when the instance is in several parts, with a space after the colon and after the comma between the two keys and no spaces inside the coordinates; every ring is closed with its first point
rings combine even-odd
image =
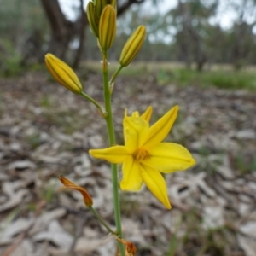
{"type": "Polygon", "coordinates": [[[77,190],[81,193],[81,195],[83,195],[85,206],[86,207],[92,207],[93,201],[92,201],[92,198],[91,198],[90,194],[87,192],[86,189],[84,189],[82,187],[79,187],[77,184],[71,182],[66,177],[60,176],[59,180],[63,184],[63,187],[61,187],[61,189],[59,189],[59,191],[64,190],[64,189],[77,190]]]}

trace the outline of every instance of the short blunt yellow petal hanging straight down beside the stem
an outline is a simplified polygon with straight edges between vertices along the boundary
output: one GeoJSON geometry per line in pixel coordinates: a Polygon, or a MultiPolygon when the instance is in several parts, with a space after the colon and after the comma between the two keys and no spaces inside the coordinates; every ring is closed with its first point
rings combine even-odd
{"type": "Polygon", "coordinates": [[[142,188],[142,185],[140,166],[133,160],[132,156],[129,156],[123,164],[123,179],[120,182],[120,188],[122,190],[138,191],[142,188]]]}

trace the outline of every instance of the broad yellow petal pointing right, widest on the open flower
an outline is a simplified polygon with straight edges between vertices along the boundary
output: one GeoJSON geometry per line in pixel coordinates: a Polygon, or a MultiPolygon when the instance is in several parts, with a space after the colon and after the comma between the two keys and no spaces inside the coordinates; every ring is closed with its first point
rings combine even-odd
{"type": "Polygon", "coordinates": [[[195,165],[195,159],[187,148],[176,143],[159,143],[148,149],[149,158],[143,164],[160,172],[183,171],[195,165]]]}

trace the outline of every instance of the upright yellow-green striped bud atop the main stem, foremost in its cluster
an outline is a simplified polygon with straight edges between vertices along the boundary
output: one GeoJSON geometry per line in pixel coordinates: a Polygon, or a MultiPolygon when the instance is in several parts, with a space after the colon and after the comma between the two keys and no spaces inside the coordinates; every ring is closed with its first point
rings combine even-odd
{"type": "Polygon", "coordinates": [[[99,23],[99,44],[103,50],[109,49],[116,33],[116,13],[113,6],[108,4],[102,11],[99,23]]]}

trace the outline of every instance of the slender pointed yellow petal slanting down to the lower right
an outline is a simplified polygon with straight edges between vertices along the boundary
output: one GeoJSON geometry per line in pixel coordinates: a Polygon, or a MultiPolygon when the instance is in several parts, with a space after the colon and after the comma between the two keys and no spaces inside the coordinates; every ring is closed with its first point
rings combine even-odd
{"type": "Polygon", "coordinates": [[[147,185],[148,189],[167,209],[171,209],[164,177],[154,168],[143,164],[140,166],[143,182],[147,185]]]}

